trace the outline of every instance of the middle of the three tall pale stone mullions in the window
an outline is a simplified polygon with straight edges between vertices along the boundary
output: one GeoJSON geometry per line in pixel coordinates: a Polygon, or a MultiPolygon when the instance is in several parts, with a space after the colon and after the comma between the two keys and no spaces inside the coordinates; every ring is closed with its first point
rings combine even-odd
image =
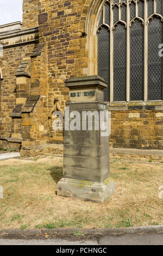
{"type": "Polygon", "coordinates": [[[127,0],[127,61],[126,61],[126,101],[130,100],[130,12],[129,12],[129,0],[127,0]]]}

